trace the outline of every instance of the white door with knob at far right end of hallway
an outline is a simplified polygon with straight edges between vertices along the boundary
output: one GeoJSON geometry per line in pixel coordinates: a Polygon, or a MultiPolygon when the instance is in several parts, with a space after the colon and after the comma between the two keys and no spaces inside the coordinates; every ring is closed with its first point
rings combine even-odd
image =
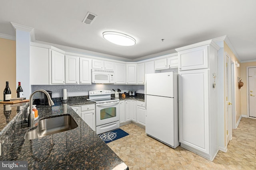
{"type": "Polygon", "coordinates": [[[248,68],[249,80],[249,115],[256,117],[256,67],[248,68]]]}

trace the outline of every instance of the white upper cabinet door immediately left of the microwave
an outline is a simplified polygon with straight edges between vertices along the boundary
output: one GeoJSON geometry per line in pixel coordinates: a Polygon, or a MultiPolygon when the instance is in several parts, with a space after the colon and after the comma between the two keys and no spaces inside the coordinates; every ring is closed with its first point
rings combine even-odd
{"type": "Polygon", "coordinates": [[[92,60],[80,57],[80,84],[92,84],[92,60]]]}

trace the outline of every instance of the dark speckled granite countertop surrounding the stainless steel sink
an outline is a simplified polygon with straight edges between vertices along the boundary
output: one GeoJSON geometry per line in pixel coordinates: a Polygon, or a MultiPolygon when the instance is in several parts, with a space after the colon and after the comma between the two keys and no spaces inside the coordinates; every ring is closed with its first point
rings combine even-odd
{"type": "MultiPolygon", "coordinates": [[[[26,105],[28,107],[28,104],[26,105]]],[[[96,135],[96,133],[68,105],[37,106],[39,119],[62,114],[70,114],[78,127],[75,129],[48,135],[46,137],[25,140],[27,127],[25,121],[12,122],[11,130],[5,130],[0,137],[2,155],[0,160],[25,160],[28,169],[112,169],[123,161],[96,135]],[[8,135],[12,135],[8,137],[8,135]],[[13,137],[14,136],[14,137],[13,137]]],[[[26,109],[19,113],[26,114],[26,109]]],[[[18,116],[22,117],[22,116],[18,116]]],[[[39,119],[35,121],[38,123],[39,119]]]]}

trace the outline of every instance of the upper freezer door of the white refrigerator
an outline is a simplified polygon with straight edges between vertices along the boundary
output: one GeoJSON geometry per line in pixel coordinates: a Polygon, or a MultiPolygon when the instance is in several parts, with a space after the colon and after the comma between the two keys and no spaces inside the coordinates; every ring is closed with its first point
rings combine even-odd
{"type": "Polygon", "coordinates": [[[174,72],[146,74],[145,92],[154,96],[174,97],[174,72]]]}

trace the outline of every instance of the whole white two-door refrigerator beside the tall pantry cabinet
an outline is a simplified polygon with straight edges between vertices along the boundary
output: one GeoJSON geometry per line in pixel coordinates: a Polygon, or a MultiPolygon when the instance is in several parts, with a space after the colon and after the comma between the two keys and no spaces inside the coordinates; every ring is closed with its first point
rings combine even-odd
{"type": "Polygon", "coordinates": [[[176,148],[178,139],[178,74],[146,74],[146,134],[176,148]]]}

